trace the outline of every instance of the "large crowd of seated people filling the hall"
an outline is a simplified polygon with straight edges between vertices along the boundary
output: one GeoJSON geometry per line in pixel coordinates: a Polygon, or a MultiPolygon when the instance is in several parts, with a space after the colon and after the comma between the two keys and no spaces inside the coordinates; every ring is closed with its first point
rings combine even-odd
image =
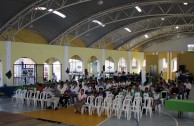
{"type": "Polygon", "coordinates": [[[75,112],[80,113],[82,105],[85,103],[87,96],[102,96],[105,98],[108,94],[123,95],[124,97],[130,95],[134,97],[152,97],[153,110],[157,104],[161,104],[161,98],[177,98],[188,99],[191,84],[186,80],[185,82],[175,82],[169,80],[166,82],[163,79],[158,79],[152,82],[146,81],[143,86],[139,78],[86,78],[78,81],[69,82],[55,82],[52,84],[30,85],[27,90],[35,90],[40,92],[52,92],[47,100],[47,108],[67,107],[74,105],[75,112]],[[52,107],[51,107],[52,106],[52,107]]]}

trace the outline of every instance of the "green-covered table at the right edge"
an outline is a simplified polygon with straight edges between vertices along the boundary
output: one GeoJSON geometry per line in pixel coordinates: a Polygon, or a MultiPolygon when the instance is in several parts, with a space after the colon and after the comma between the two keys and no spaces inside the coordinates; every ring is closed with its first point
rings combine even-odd
{"type": "Polygon", "coordinates": [[[170,99],[165,102],[165,108],[178,111],[178,118],[183,118],[183,112],[194,112],[194,100],[170,99]]]}

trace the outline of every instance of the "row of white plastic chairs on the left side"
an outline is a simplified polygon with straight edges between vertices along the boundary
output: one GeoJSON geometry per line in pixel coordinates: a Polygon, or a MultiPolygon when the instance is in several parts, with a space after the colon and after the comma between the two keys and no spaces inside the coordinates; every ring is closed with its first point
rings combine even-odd
{"type": "Polygon", "coordinates": [[[49,98],[52,96],[52,92],[40,92],[33,90],[16,90],[15,95],[12,96],[12,102],[15,100],[16,104],[22,107],[24,104],[27,106],[40,105],[41,108],[46,106],[46,102],[49,101],[49,98]]]}

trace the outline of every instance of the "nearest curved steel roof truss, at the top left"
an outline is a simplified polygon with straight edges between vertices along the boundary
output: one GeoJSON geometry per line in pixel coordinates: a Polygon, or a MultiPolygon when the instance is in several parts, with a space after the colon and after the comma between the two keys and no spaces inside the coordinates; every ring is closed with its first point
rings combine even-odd
{"type": "Polygon", "coordinates": [[[9,20],[0,29],[0,35],[3,35],[3,33],[6,33],[8,31],[14,32],[12,34],[15,35],[26,26],[52,13],[49,11],[35,10],[34,8],[46,7],[47,10],[53,9],[53,11],[59,11],[66,7],[74,6],[88,1],[91,1],[91,0],[38,0],[33,4],[29,5],[27,8],[25,8],[17,15],[15,15],[11,20],[9,20]],[[55,8],[52,8],[52,7],[55,7],[55,8]],[[37,13],[38,11],[41,12],[41,14],[38,14],[37,13]]]}

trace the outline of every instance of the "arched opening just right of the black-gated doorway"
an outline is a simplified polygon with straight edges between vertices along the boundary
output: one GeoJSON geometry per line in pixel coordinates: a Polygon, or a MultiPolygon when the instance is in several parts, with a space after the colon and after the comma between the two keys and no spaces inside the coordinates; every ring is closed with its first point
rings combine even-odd
{"type": "Polygon", "coordinates": [[[44,81],[59,82],[62,79],[62,64],[57,58],[49,58],[44,63],[44,81]]]}

